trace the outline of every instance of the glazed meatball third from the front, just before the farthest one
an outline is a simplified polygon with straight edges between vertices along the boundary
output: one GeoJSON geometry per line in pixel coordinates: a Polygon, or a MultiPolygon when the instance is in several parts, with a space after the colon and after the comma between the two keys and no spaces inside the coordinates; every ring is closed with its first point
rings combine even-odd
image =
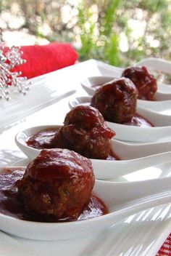
{"type": "Polygon", "coordinates": [[[104,119],[122,124],[135,114],[138,90],[130,79],[122,77],[104,84],[91,98],[91,105],[98,108],[104,119]]]}

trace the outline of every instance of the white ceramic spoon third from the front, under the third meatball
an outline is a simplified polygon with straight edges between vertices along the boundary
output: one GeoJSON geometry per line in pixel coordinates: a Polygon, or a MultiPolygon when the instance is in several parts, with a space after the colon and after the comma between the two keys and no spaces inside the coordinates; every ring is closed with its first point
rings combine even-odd
{"type": "MultiPolygon", "coordinates": [[[[70,100],[70,108],[76,105],[90,105],[91,97],[76,97],[70,100]]],[[[137,107],[137,113],[151,121],[154,127],[135,127],[107,121],[108,127],[116,132],[115,138],[132,142],[152,142],[171,139],[171,116],[157,113],[146,108],[137,107]]]]}

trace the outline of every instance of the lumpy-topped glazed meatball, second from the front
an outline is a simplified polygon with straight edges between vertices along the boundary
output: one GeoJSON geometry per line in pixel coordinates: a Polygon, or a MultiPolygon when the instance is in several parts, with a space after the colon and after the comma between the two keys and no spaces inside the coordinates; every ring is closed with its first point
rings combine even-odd
{"type": "Polygon", "coordinates": [[[68,148],[91,159],[107,159],[114,135],[96,108],[78,105],[67,113],[64,126],[52,140],[52,147],[68,148]]]}

